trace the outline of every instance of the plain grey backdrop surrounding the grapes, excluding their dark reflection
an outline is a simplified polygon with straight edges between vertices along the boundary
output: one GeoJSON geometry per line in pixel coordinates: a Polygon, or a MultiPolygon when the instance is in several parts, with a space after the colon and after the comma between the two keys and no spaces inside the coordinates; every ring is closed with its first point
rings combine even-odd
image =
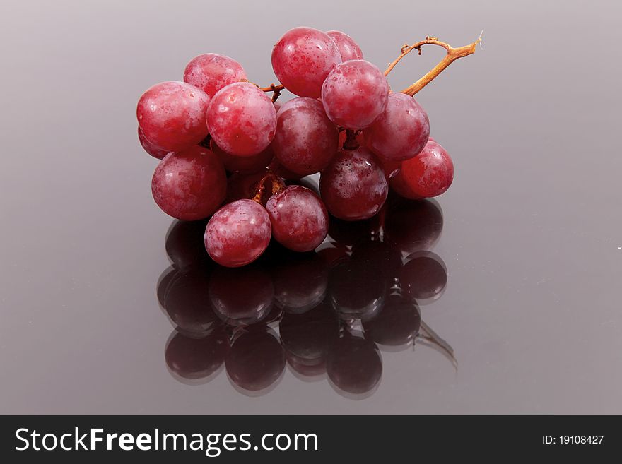
{"type": "MultiPolygon", "coordinates": [[[[615,1],[3,1],[0,412],[622,412],[622,42],[615,1]],[[439,198],[445,294],[423,319],[455,350],[383,352],[351,400],[286,371],[259,398],[167,371],[155,285],[170,218],[136,101],[196,54],[274,81],[296,25],[352,35],[381,68],[404,42],[483,49],[417,95],[456,177],[439,198]]],[[[442,56],[390,76],[403,88],[442,56]]]]}

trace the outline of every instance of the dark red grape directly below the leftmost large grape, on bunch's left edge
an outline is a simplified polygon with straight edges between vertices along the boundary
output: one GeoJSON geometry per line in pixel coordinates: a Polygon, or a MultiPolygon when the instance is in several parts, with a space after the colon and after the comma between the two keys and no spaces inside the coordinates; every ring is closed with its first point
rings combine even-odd
{"type": "Polygon", "coordinates": [[[173,218],[207,218],[225,199],[225,169],[214,153],[194,145],[160,161],[153,172],[151,192],[155,203],[173,218]]]}

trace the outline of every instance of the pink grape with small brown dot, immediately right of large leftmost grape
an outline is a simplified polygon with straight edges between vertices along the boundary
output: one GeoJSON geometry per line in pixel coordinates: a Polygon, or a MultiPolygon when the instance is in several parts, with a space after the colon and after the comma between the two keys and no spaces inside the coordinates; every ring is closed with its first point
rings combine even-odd
{"type": "Polygon", "coordinates": [[[272,100],[247,82],[218,90],[207,109],[213,141],[231,155],[251,156],[268,148],[276,132],[272,100]]]}

